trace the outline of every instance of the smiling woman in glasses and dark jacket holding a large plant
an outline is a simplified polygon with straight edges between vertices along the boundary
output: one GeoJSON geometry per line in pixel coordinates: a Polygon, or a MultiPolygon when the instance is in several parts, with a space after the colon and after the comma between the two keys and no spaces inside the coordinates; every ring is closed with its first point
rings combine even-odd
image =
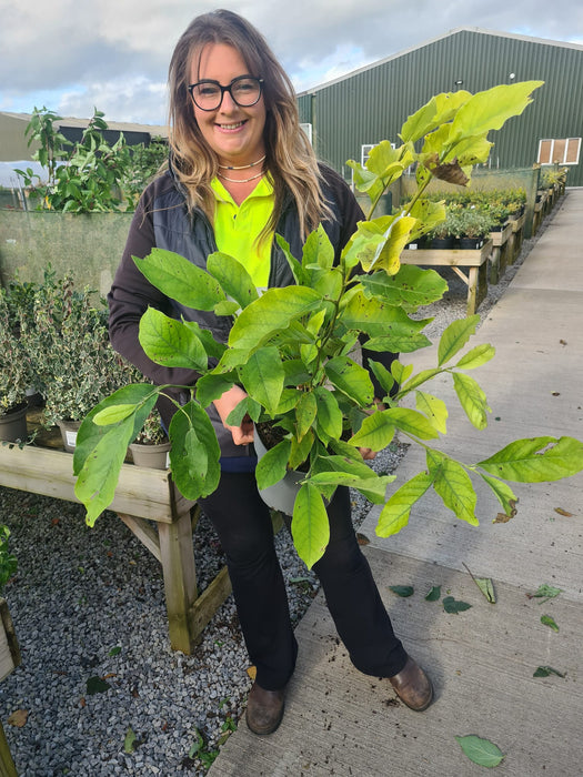
{"type": "MultiPolygon", "coordinates": [[[[175,47],[169,85],[170,170],[148,186],[137,209],[109,294],[110,331],[113,346],[154,382],[193,385],[194,372],[162,367],[145,356],[138,341],[140,317],[152,305],[197,321],[221,342],[229,335],[227,317],[165,299],[131,256],[143,258],[159,246],[204,268],[207,256],[219,249],[242,262],[258,287],[283,286],[293,279],[275,232],[298,256],[309,232],[322,222],[338,258],[362,213],[342,179],[316,163],[299,125],[291,82],[261,34],[242,18],[215,11],[194,19],[175,47]]],[[[393,357],[384,354],[385,363],[393,357]]],[[[381,361],[379,354],[375,359],[381,361]]],[[[254,480],[253,425],[227,422],[242,397],[243,390],[233,386],[209,410],[221,445],[221,481],[201,505],[227,555],[257,666],[247,722],[255,734],[270,734],[283,715],[298,644],[270,513],[254,480]]],[[[160,410],[168,424],[174,406],[161,401],[160,410]]],[[[412,709],[425,709],[431,683],[393,633],[355,538],[348,488],[336,490],[328,512],[330,544],[313,568],[351,659],[366,674],[388,677],[412,709]]]]}

